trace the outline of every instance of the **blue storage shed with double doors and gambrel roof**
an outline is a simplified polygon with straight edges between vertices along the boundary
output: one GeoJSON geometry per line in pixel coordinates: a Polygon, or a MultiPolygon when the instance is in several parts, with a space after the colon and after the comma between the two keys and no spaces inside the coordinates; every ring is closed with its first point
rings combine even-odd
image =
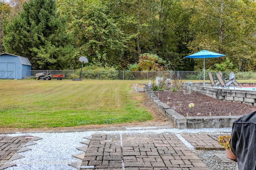
{"type": "Polygon", "coordinates": [[[28,58],[2,53],[0,54],[0,79],[23,79],[31,76],[31,63],[28,58]]]}

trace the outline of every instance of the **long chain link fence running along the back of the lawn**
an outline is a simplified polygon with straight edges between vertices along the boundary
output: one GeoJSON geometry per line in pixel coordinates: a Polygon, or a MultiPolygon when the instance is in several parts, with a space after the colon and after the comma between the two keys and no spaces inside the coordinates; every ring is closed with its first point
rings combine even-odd
{"type": "MultiPolygon", "coordinates": [[[[23,70],[23,79],[35,78],[39,72],[53,74],[65,74],[62,79],[77,79],[81,70],[23,70]],[[29,72],[31,72],[30,75],[29,72]]],[[[231,72],[222,72],[224,78],[229,77],[231,72]]],[[[212,72],[215,76],[215,72],[212,72]]],[[[236,80],[256,79],[256,72],[234,72],[236,80]]],[[[82,70],[82,79],[94,80],[156,80],[156,77],[179,78],[182,80],[204,80],[204,72],[199,71],[111,71],[111,70],[82,70]]],[[[52,76],[53,78],[53,76],[52,76]]],[[[209,80],[205,72],[205,80],[209,80]]]]}

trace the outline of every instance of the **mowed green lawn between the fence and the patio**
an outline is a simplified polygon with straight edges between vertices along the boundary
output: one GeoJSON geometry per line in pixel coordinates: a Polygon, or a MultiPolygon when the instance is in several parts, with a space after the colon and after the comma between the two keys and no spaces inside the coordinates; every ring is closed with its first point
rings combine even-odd
{"type": "Polygon", "coordinates": [[[132,84],[145,80],[0,80],[0,127],[72,127],[153,119],[132,84]]]}

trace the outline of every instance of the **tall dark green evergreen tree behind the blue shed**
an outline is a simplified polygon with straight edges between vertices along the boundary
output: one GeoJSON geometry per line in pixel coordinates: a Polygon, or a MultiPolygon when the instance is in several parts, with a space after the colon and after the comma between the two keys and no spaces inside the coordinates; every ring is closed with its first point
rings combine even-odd
{"type": "Polygon", "coordinates": [[[72,37],[59,16],[55,0],[30,0],[4,26],[8,53],[28,57],[32,69],[66,69],[72,56],[72,37]]]}

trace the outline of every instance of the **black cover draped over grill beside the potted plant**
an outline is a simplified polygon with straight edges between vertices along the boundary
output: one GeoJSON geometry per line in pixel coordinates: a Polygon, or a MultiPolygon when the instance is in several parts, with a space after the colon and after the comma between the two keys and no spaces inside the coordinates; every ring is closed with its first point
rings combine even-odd
{"type": "Polygon", "coordinates": [[[256,111],[234,121],[230,147],[239,170],[256,170],[256,111]]]}

